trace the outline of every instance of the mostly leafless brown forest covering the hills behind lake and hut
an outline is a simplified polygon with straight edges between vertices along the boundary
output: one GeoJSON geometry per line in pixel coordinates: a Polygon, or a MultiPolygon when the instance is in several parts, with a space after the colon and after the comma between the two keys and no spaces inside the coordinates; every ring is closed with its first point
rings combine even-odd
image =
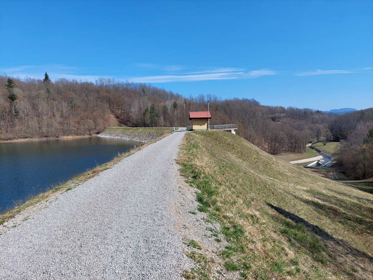
{"type": "Polygon", "coordinates": [[[255,99],[185,97],[151,84],[98,78],[95,83],[0,75],[0,140],[96,134],[114,125],[185,127],[190,111],[211,125],[238,124],[237,134],[271,153],[304,153],[311,138],[338,141],[337,155],[352,178],[373,176],[373,108],[344,115],[261,105],[255,99]]]}

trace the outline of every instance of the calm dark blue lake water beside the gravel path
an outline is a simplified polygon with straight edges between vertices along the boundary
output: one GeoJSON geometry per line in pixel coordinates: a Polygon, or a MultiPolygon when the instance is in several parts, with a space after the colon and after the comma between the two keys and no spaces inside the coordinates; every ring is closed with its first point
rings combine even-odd
{"type": "Polygon", "coordinates": [[[135,144],[103,137],[0,143],[0,213],[135,144]]]}

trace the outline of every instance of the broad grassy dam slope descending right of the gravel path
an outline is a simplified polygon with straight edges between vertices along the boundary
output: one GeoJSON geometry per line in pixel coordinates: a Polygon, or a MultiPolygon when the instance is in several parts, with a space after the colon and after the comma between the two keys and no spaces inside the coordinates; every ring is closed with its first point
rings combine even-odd
{"type": "Polygon", "coordinates": [[[178,161],[199,210],[222,226],[219,254],[237,279],[372,277],[373,195],[221,131],[186,134],[178,161]]]}

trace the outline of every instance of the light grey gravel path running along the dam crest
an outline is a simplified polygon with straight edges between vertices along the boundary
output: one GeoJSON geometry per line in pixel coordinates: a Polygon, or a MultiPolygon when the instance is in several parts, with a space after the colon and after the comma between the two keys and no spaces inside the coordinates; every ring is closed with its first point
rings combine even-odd
{"type": "Polygon", "coordinates": [[[143,148],[4,232],[0,279],[180,279],[192,265],[172,207],[184,134],[143,148]]]}

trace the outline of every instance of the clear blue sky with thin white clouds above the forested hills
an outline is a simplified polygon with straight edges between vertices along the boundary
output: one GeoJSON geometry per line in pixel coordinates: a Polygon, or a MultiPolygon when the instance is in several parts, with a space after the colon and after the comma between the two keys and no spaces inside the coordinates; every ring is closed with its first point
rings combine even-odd
{"type": "Polygon", "coordinates": [[[0,2],[0,73],[373,107],[373,1],[0,2]]]}

